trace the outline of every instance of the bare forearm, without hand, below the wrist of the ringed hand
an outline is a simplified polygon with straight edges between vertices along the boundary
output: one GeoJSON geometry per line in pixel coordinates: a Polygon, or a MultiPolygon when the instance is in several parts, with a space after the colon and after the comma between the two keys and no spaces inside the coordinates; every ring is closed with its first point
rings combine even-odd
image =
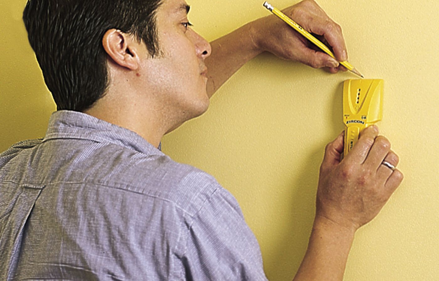
{"type": "Polygon", "coordinates": [[[342,281],[355,230],[316,218],[308,249],[293,281],[342,281]]]}

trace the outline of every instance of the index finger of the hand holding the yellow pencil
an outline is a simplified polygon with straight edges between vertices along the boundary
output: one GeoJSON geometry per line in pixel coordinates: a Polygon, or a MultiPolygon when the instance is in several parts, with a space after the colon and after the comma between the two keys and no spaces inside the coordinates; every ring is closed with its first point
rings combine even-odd
{"type": "Polygon", "coordinates": [[[313,21],[309,23],[309,28],[312,33],[324,36],[326,41],[334,50],[335,58],[338,61],[345,61],[348,59],[345,39],[340,25],[336,24],[331,19],[313,21]]]}

